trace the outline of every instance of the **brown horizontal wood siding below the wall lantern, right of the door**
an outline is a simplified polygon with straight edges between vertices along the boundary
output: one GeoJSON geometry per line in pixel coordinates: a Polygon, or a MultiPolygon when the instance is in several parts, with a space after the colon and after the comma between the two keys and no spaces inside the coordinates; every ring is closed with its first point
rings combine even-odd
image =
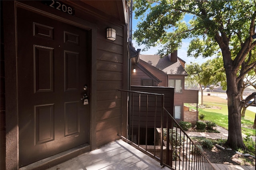
{"type": "MultiPolygon", "coordinates": [[[[121,92],[124,79],[123,27],[113,26],[117,32],[116,41],[105,38],[106,31],[97,30],[97,146],[118,139],[122,125],[121,92]]],[[[104,28],[104,27],[103,27],[104,28]]]]}

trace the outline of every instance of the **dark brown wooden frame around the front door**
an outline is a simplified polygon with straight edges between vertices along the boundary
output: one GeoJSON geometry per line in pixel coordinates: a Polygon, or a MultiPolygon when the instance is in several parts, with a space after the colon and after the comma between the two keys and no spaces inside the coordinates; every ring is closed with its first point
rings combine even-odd
{"type": "MultiPolygon", "coordinates": [[[[96,148],[96,37],[97,27],[88,21],[47,8],[38,2],[3,1],[4,19],[4,62],[6,88],[6,170],[19,168],[19,127],[18,127],[18,69],[17,69],[17,8],[24,8],[54,20],[62,21],[89,32],[90,49],[90,150],[96,148]],[[26,3],[26,2],[24,2],[26,3]],[[14,69],[15,68],[15,69],[14,69]]],[[[87,149],[84,152],[88,151],[87,149]]],[[[62,158],[62,157],[61,157],[62,158]]]]}

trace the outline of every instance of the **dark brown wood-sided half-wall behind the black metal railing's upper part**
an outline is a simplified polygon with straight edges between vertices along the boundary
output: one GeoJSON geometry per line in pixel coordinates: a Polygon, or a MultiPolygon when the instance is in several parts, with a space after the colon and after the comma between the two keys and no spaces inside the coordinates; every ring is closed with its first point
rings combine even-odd
{"type": "MultiPolygon", "coordinates": [[[[148,92],[148,93],[156,93],[156,94],[164,94],[164,107],[167,111],[173,115],[173,107],[174,107],[174,88],[168,87],[150,87],[150,86],[131,86],[132,91],[137,92],[148,92]]],[[[154,127],[154,117],[155,117],[155,102],[157,104],[156,110],[156,127],[160,127],[161,121],[161,102],[162,98],[158,96],[156,99],[154,96],[148,96],[148,110],[147,110],[147,96],[145,94],[141,94],[140,97],[140,107],[139,107],[139,97],[138,94],[134,94],[134,96],[130,97],[130,101],[132,104],[131,113],[133,118],[134,127],[138,126],[140,119],[140,127],[146,127],[146,119],[148,119],[148,127],[154,127]],[[140,112],[139,112],[140,109],[140,112]],[[148,112],[148,118],[146,118],[146,113],[148,112]],[[139,116],[140,115],[140,116],[139,116]]],[[[164,116],[166,117],[166,115],[164,116]]]]}

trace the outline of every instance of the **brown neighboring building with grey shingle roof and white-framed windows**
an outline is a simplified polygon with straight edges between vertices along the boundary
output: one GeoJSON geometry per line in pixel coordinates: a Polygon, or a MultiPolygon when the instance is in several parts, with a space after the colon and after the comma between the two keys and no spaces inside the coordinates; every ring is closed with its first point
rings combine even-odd
{"type": "MultiPolygon", "coordinates": [[[[190,120],[193,124],[198,120],[196,116],[184,117],[184,103],[198,104],[198,90],[185,90],[184,81],[187,72],[185,71],[185,61],[174,51],[168,56],[159,55],[139,55],[132,59],[132,86],[164,86],[174,87],[174,118],[177,121],[190,120]],[[134,72],[134,71],[135,72],[134,72]],[[196,117],[196,118],[195,118],[196,117]]],[[[189,114],[186,114],[189,115],[189,114]]]]}

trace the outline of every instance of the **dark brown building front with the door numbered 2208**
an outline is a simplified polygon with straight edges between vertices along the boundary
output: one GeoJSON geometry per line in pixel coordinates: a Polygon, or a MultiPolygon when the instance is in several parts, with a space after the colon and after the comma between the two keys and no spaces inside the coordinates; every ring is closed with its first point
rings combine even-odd
{"type": "Polygon", "coordinates": [[[129,3],[0,1],[0,169],[43,169],[120,139],[129,3]]]}

